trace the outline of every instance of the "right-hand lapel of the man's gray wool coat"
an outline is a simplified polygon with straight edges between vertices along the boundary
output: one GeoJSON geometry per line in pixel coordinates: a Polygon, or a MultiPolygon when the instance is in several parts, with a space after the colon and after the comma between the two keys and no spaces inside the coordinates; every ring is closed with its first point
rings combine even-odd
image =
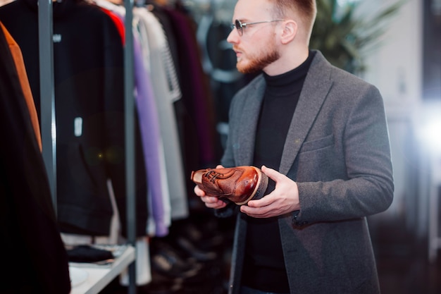
{"type": "Polygon", "coordinates": [[[316,120],[316,116],[330,90],[332,81],[329,77],[329,63],[317,51],[308,75],[306,75],[299,102],[288,130],[282,159],[280,160],[280,173],[286,175],[290,171],[292,164],[294,164],[299,149],[306,139],[306,135],[308,135],[313,122],[316,120]]]}

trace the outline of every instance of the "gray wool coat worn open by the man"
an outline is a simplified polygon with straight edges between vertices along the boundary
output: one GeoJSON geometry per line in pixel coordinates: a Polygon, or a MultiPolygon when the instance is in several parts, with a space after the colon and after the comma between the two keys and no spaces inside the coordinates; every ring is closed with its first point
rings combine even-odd
{"type": "MultiPolygon", "coordinates": [[[[232,99],[223,166],[252,164],[265,87],[259,75],[232,99]]],[[[278,171],[299,187],[300,210],[278,221],[290,293],[380,293],[366,216],[390,206],[394,184],[378,89],[317,51],[278,171]]],[[[229,289],[237,294],[247,223],[235,204],[216,214],[237,214],[229,289]]]]}

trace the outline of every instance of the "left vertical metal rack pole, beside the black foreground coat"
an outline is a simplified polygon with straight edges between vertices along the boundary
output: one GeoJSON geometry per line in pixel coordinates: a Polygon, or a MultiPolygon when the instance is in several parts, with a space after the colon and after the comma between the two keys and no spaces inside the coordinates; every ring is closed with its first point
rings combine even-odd
{"type": "Polygon", "coordinates": [[[42,156],[49,178],[52,203],[56,209],[56,123],[54,95],[54,53],[52,47],[52,1],[39,1],[39,76],[40,76],[40,131],[42,156]]]}

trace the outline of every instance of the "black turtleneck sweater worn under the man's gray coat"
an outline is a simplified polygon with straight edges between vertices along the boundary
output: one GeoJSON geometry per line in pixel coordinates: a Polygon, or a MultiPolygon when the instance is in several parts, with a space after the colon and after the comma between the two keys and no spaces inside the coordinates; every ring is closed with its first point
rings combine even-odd
{"type": "MultiPolygon", "coordinates": [[[[266,91],[256,131],[254,166],[265,165],[278,171],[287,132],[312,59],[313,52],[310,51],[308,59],[292,71],[275,76],[263,73],[266,91]]],[[[270,179],[266,194],[274,189],[275,183],[270,179]]],[[[247,222],[242,285],[289,293],[278,218],[247,217],[247,222]]]]}

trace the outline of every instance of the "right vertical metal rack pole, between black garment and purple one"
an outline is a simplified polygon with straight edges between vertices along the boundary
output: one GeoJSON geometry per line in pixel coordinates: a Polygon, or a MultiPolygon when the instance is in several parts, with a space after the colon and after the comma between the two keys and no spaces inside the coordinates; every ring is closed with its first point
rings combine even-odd
{"type": "MultiPolygon", "coordinates": [[[[127,232],[128,243],[135,247],[136,256],[136,203],[135,203],[135,74],[133,65],[133,0],[124,1],[125,48],[124,48],[124,100],[125,100],[125,179],[127,183],[127,232]]],[[[129,266],[130,294],[136,294],[135,262],[129,266]]]]}

